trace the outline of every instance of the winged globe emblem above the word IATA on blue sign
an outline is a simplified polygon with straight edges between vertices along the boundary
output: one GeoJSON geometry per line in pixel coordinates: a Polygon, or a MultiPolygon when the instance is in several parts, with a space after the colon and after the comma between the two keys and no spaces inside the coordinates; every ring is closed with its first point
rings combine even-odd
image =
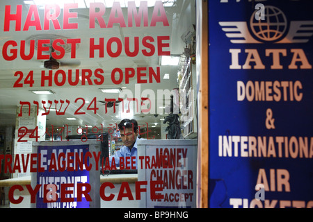
{"type": "Polygon", "coordinates": [[[305,43],[313,35],[313,21],[291,21],[287,32],[287,19],[284,13],[274,6],[265,6],[265,19],[256,21],[255,12],[247,22],[218,22],[234,44],[278,44],[305,43]],[[286,34],[287,33],[287,34],[286,34]]]}

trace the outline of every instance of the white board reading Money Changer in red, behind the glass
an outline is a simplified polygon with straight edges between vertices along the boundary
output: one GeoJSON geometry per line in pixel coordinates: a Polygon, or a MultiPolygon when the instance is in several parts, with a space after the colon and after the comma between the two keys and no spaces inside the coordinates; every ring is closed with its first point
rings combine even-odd
{"type": "Polygon", "coordinates": [[[153,192],[142,193],[141,207],[196,207],[197,141],[138,141],[138,181],[153,192]]]}

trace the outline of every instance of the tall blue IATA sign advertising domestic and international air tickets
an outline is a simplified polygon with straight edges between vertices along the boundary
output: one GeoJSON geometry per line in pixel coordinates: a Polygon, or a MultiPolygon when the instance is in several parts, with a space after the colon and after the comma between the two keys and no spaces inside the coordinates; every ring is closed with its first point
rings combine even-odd
{"type": "Polygon", "coordinates": [[[208,7],[209,207],[313,207],[313,1],[208,7]]]}

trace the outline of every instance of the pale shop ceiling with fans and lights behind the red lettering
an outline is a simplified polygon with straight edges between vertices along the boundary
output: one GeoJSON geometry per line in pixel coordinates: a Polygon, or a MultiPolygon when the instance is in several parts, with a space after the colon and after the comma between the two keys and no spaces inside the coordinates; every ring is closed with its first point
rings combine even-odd
{"type": "MultiPolygon", "coordinates": [[[[62,1],[64,2],[64,1],[62,1]]],[[[98,1],[97,1],[98,2],[98,1]]],[[[99,1],[103,2],[103,1],[99,1]]],[[[73,30],[61,30],[55,31],[54,28],[51,28],[49,31],[35,31],[35,27],[30,27],[29,31],[15,31],[15,22],[10,22],[10,31],[3,32],[4,24],[4,10],[5,6],[10,4],[12,6],[13,12],[15,12],[15,6],[21,4],[23,8],[22,13],[22,27],[24,26],[24,21],[26,19],[27,12],[29,10],[29,4],[24,3],[24,1],[0,1],[0,49],[3,51],[3,45],[9,40],[14,40],[17,42],[15,49],[19,51],[19,46],[21,41],[25,40],[26,43],[29,40],[54,40],[55,38],[64,38],[64,39],[80,39],[81,43],[76,48],[76,58],[70,58],[70,52],[65,52],[64,58],[61,59],[61,67],[68,76],[68,70],[72,70],[73,74],[76,69],[103,69],[104,70],[104,83],[102,85],[82,85],[81,80],[78,85],[69,85],[66,81],[65,85],[62,87],[56,86],[55,81],[51,87],[47,86],[48,81],[45,82],[45,87],[40,86],[40,81],[42,80],[41,74],[42,71],[45,71],[45,75],[48,75],[49,69],[43,67],[45,60],[38,60],[36,58],[36,51],[31,60],[22,60],[19,55],[17,58],[12,61],[7,61],[3,59],[1,55],[0,58],[0,126],[15,126],[15,118],[17,106],[20,103],[27,101],[34,105],[34,101],[38,101],[39,108],[42,109],[42,101],[46,101],[45,107],[49,107],[48,101],[52,101],[51,108],[53,108],[56,103],[54,101],[65,101],[63,105],[67,105],[66,101],[70,102],[70,105],[67,107],[67,110],[64,115],[57,115],[55,111],[51,111],[47,115],[47,127],[50,125],[62,126],[62,125],[89,125],[89,126],[99,126],[100,123],[106,126],[108,123],[118,123],[121,119],[129,117],[126,112],[120,112],[116,106],[115,112],[113,108],[107,108],[105,110],[105,105],[99,101],[104,101],[104,99],[116,99],[118,100],[119,94],[104,94],[100,88],[110,88],[110,87],[120,87],[122,92],[127,92],[127,89],[131,92],[143,92],[145,89],[152,89],[157,95],[157,89],[173,89],[177,87],[177,71],[179,70],[178,66],[161,66],[159,63],[159,56],[157,53],[154,53],[153,56],[136,56],[129,57],[125,53],[122,53],[117,58],[111,58],[104,55],[104,58],[99,58],[99,53],[95,51],[95,58],[90,58],[89,56],[89,46],[90,38],[95,38],[96,44],[99,42],[99,38],[104,37],[104,41],[109,40],[111,37],[118,37],[120,40],[124,40],[124,37],[138,36],[141,40],[145,36],[152,36],[154,40],[157,40],[157,36],[170,35],[170,53],[171,55],[180,55],[184,51],[184,46],[186,43],[182,40],[181,36],[188,31],[188,28],[195,24],[195,9],[194,1],[170,1],[174,4],[170,7],[166,7],[166,15],[168,17],[168,22],[170,26],[164,27],[161,23],[157,23],[156,27],[135,27],[135,28],[120,28],[119,25],[114,24],[113,28],[89,28],[89,9],[78,8],[72,10],[77,12],[78,16],[72,22],[77,22],[79,24],[78,29],[73,30]],[[72,65],[62,65],[62,62],[70,62],[72,65]],[[133,68],[136,70],[137,67],[153,67],[154,70],[156,67],[160,67],[161,72],[161,83],[145,83],[138,85],[137,78],[130,78],[129,84],[125,83],[125,78],[121,84],[116,85],[112,83],[111,80],[111,71],[114,68],[120,68],[125,70],[125,68],[133,68]],[[20,83],[23,84],[23,87],[13,87],[17,83],[19,74],[17,71],[22,71],[24,74],[23,79],[20,83]],[[33,71],[33,80],[34,84],[32,87],[29,87],[28,84],[24,84],[24,80],[29,74],[30,71],[33,71]],[[163,79],[164,74],[169,74],[169,79],[163,79]],[[50,89],[55,94],[52,95],[37,95],[31,92],[34,89],[50,89]],[[138,91],[141,90],[141,91],[138,91]],[[79,99],[82,98],[82,99],[79,99]],[[93,110],[87,110],[88,104],[84,105],[83,108],[79,109],[83,101],[92,101],[94,98],[97,99],[97,114],[93,110]],[[75,102],[76,101],[76,102],[75,102]],[[74,114],[75,111],[86,112],[86,114],[74,114]],[[77,120],[70,121],[67,120],[67,117],[75,117],[77,120]]],[[[111,8],[106,8],[104,14],[104,20],[108,21],[111,8]]],[[[127,8],[123,8],[123,13],[125,18],[127,18],[127,8]]],[[[153,8],[149,8],[149,16],[152,15],[153,8]]],[[[61,11],[61,15],[62,15],[61,11]]],[[[39,10],[40,19],[43,19],[43,10],[39,10]]],[[[62,17],[58,19],[60,24],[62,24],[62,17]]],[[[41,24],[43,22],[41,21],[41,24]]],[[[42,26],[43,27],[43,26],[42,26]]],[[[157,44],[154,44],[157,46],[157,44]]],[[[29,44],[26,44],[29,46],[29,44]]],[[[132,47],[132,44],[131,44],[132,47]]],[[[27,49],[27,48],[26,48],[27,49]]],[[[124,42],[123,42],[124,49],[124,42]]],[[[132,49],[132,48],[131,48],[132,49]]],[[[53,74],[56,74],[56,70],[53,71],[53,74]]],[[[61,75],[60,75],[61,76],[61,75]]],[[[94,74],[93,74],[94,76],[94,74]]],[[[93,80],[94,78],[91,78],[93,80]]],[[[144,80],[149,80],[147,77],[143,78],[144,80]]],[[[25,82],[27,83],[27,81],[25,82]]],[[[129,95],[130,97],[130,95],[129,95]]],[[[60,104],[60,103],[59,103],[60,104]]],[[[90,103],[89,103],[90,104],[90,103]]],[[[125,103],[127,104],[127,103],[125,103]]],[[[94,105],[94,104],[93,104],[94,105]]],[[[140,105],[140,104],[139,104],[140,105]]],[[[157,101],[156,105],[157,106],[157,101]]],[[[63,106],[64,108],[65,106],[63,106]]],[[[127,108],[127,105],[125,106],[127,108]]],[[[157,111],[157,109],[156,109],[157,111]]],[[[136,111],[135,111],[136,112],[136,111]]],[[[164,112],[164,111],[163,111],[164,112]]],[[[143,114],[138,113],[134,114],[134,118],[137,119],[138,123],[143,124],[148,123],[160,123],[160,119],[166,114],[143,114]]]]}

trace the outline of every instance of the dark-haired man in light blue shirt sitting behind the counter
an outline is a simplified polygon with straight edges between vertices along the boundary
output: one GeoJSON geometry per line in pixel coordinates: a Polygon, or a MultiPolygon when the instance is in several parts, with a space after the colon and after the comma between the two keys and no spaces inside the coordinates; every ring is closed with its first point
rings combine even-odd
{"type": "Polygon", "coordinates": [[[120,137],[125,146],[122,146],[119,151],[116,151],[114,155],[110,157],[110,165],[112,158],[115,159],[116,167],[120,167],[120,157],[134,157],[131,161],[128,161],[130,164],[127,166],[131,169],[136,167],[137,169],[137,141],[138,141],[138,123],[135,119],[123,119],[118,124],[118,129],[120,130],[120,137]]]}

